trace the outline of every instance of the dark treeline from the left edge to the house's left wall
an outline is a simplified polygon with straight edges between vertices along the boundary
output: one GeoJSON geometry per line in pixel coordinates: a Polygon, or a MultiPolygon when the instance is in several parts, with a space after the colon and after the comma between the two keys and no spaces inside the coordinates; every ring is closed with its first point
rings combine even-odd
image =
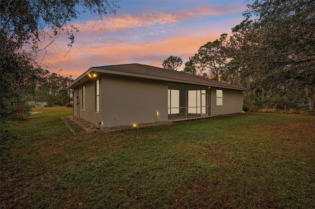
{"type": "MultiPolygon", "coordinates": [[[[27,66],[32,69],[32,66],[27,66]]],[[[32,108],[45,102],[46,106],[64,105],[72,101],[72,90],[66,89],[73,79],[43,69],[32,69],[28,74],[2,72],[0,116],[3,119],[29,115],[32,108]]],[[[19,71],[20,72],[20,71],[19,71]]]]}

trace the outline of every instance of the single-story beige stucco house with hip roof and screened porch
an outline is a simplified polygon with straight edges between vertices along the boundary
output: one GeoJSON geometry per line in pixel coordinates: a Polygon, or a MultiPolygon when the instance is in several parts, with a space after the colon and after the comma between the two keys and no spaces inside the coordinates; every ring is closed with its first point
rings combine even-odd
{"type": "Polygon", "coordinates": [[[75,79],[73,112],[102,128],[242,112],[242,87],[142,64],[92,67],[75,79]]]}

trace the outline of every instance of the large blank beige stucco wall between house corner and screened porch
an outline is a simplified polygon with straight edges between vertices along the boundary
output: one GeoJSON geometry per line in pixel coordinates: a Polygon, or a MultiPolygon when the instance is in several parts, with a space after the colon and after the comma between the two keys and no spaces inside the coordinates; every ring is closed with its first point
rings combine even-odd
{"type": "Polygon", "coordinates": [[[167,83],[103,75],[103,127],[168,121],[167,83]]]}

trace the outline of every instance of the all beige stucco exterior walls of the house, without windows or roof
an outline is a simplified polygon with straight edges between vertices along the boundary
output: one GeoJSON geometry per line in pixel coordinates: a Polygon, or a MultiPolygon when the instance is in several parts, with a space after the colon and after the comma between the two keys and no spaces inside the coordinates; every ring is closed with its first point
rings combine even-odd
{"type": "MultiPolygon", "coordinates": [[[[74,89],[73,113],[102,128],[168,121],[168,83],[124,76],[99,75],[74,89]],[[99,79],[99,112],[95,112],[95,80],[99,79]],[[85,86],[85,108],[82,103],[82,86],[85,86]],[[79,103],[76,97],[79,96],[79,103]]],[[[178,88],[185,86],[177,85],[178,88]]],[[[185,91],[183,91],[185,93],[185,91]]],[[[208,89],[209,116],[242,112],[243,92],[239,90],[208,89]],[[216,90],[223,91],[223,105],[217,105],[216,90]],[[210,112],[211,111],[211,112],[210,112]]],[[[184,95],[182,98],[185,98],[184,95]]],[[[182,101],[183,103],[183,101],[182,101]]],[[[185,101],[184,101],[185,103],[185,101]]],[[[184,104],[185,106],[185,104],[184,104]]]]}

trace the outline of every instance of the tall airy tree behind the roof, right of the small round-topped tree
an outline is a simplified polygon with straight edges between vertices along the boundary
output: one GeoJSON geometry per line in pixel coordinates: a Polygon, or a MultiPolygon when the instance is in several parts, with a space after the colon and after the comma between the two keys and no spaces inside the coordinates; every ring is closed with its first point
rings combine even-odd
{"type": "Polygon", "coordinates": [[[227,34],[221,34],[220,39],[208,42],[201,46],[194,59],[198,63],[200,72],[209,70],[215,80],[219,80],[220,75],[226,69],[228,63],[227,34]]]}

